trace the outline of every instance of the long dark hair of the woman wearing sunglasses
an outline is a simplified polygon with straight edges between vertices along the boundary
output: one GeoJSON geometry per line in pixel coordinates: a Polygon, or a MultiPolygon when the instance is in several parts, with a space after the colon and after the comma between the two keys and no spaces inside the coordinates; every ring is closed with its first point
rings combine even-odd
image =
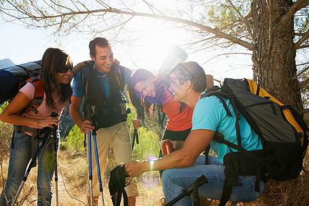
{"type": "Polygon", "coordinates": [[[58,87],[55,78],[55,73],[61,71],[69,60],[71,60],[69,55],[58,48],[48,48],[43,54],[40,80],[46,95],[46,104],[49,108],[56,108],[56,102],[52,98],[52,93],[54,92],[52,89],[55,89],[56,93],[60,96],[60,102],[65,102],[71,98],[71,84],[61,83],[60,87],[58,87]]]}

